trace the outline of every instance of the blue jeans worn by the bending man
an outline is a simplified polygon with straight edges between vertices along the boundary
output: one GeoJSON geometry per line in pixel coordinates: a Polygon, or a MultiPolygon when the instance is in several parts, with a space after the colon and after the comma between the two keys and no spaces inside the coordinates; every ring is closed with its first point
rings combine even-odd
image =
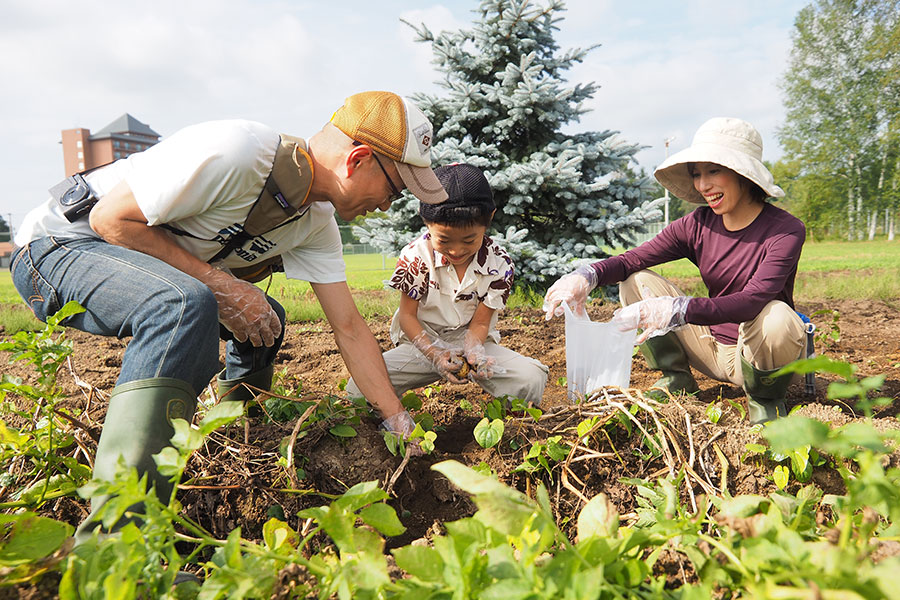
{"type": "Polygon", "coordinates": [[[132,337],[117,385],[172,377],[199,392],[221,368],[219,338],[228,342],[228,379],[270,365],[284,338],[284,309],[272,298],[267,300],[282,323],[275,345],[237,342],[219,325],[216,299],[203,283],[152,256],[98,238],[39,238],[15,251],[10,271],[41,321],[75,300],[86,312],[69,317],[67,327],[132,337]]]}

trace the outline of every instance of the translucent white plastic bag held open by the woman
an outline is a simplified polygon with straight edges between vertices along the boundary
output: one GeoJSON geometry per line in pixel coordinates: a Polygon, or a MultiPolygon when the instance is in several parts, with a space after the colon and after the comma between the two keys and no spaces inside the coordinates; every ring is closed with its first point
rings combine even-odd
{"type": "Polygon", "coordinates": [[[619,331],[612,323],[576,316],[566,303],[563,307],[569,400],[578,400],[607,385],[628,387],[637,330],[619,331]]]}

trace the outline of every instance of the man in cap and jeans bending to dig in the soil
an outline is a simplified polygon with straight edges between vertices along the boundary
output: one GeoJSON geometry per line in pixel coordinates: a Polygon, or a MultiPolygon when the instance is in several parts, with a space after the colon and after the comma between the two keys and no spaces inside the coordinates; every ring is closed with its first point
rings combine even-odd
{"type": "MultiPolygon", "coordinates": [[[[385,427],[412,430],[350,295],[333,213],[349,220],[387,210],[404,187],[422,202],[443,201],[430,166],[431,124],[406,99],[363,92],[347,98],[308,143],[293,138],[285,145],[286,139],[250,121],[188,127],[86,174],[84,193],[65,189],[57,194],[61,201],[51,198],[25,218],[10,270],[35,316],[46,320],[75,300],[86,312],[68,326],[132,336],[97,447],[95,479],[112,479],[121,457],[149,473],[168,501],[171,482],[157,473],[152,455],[168,445],[171,419],[190,420],[197,393],[219,370],[220,337],[228,341],[220,393],[246,399],[242,383],[269,388],[284,310],[232,273],[273,259],[287,277],[310,282],[350,373],[385,427]],[[292,162],[277,158],[282,145],[292,162]],[[291,216],[245,235],[248,214],[270,189],[270,173],[276,185],[270,195],[291,216]],[[285,187],[292,189],[289,199],[279,192],[285,187]],[[67,217],[66,203],[84,196],[96,200],[89,212],[67,217]]],[[[92,517],[104,501],[92,499],[81,537],[96,527],[92,517]]]]}

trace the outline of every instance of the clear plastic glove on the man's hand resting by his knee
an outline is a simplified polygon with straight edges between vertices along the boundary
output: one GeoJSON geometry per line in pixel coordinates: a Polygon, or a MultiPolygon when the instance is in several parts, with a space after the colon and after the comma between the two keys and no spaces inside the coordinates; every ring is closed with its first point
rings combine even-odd
{"type": "Polygon", "coordinates": [[[281,321],[261,289],[214,267],[200,277],[219,304],[219,322],[234,339],[254,346],[273,346],[281,335],[281,321]]]}

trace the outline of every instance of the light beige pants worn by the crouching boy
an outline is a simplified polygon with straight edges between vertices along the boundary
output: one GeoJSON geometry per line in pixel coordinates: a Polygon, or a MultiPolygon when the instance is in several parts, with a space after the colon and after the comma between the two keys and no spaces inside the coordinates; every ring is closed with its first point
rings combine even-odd
{"type": "MultiPolygon", "coordinates": [[[[451,346],[462,348],[465,328],[441,336],[451,346]]],[[[504,348],[490,339],[484,342],[485,353],[493,357],[497,372],[490,379],[478,379],[476,383],[494,397],[512,396],[521,398],[535,406],[541,403],[544,386],[547,385],[549,369],[538,360],[522,356],[518,352],[504,348]],[[502,371],[502,372],[500,372],[502,371]]],[[[383,354],[388,376],[397,396],[407,391],[432,384],[442,379],[431,361],[416,350],[408,341],[401,341],[396,348],[383,354]]],[[[362,396],[353,379],[347,382],[347,393],[351,398],[362,396]]]]}

